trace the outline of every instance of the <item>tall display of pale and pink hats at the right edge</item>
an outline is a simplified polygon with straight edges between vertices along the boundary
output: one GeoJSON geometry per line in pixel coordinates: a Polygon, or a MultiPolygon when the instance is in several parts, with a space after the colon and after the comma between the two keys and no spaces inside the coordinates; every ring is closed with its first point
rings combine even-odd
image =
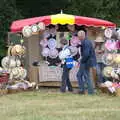
{"type": "Polygon", "coordinates": [[[103,74],[112,82],[120,83],[120,29],[106,28],[105,37],[105,53],[102,62],[106,65],[103,74]]]}

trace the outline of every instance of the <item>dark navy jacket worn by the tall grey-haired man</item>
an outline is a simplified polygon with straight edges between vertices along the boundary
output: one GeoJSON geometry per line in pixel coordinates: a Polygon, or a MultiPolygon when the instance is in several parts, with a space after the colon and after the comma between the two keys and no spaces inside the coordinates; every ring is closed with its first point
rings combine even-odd
{"type": "Polygon", "coordinates": [[[81,63],[85,64],[87,67],[95,67],[96,66],[96,56],[95,50],[90,40],[81,41],[81,63]]]}

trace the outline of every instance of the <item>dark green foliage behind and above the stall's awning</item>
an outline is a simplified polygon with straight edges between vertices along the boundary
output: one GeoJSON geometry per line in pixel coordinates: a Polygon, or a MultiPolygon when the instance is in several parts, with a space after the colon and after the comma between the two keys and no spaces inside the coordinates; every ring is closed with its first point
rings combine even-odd
{"type": "Polygon", "coordinates": [[[120,26],[119,0],[0,0],[0,56],[5,54],[5,36],[11,22],[23,17],[63,13],[97,17],[120,26]]]}

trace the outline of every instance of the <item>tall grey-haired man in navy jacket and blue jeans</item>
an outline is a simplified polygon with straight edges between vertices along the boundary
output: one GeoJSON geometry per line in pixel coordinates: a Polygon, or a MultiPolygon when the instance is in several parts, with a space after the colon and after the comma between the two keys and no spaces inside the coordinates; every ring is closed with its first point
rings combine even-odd
{"type": "Polygon", "coordinates": [[[78,38],[81,41],[81,60],[77,73],[80,93],[85,93],[85,85],[87,84],[88,94],[93,94],[94,89],[92,80],[90,79],[90,68],[96,66],[95,51],[91,41],[87,40],[85,31],[80,30],[78,38]]]}

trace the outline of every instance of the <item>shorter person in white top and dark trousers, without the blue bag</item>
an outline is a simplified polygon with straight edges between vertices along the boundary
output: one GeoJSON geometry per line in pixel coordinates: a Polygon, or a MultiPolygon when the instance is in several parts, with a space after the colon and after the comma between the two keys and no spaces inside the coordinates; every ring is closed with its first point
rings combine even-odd
{"type": "Polygon", "coordinates": [[[70,79],[69,79],[69,72],[71,70],[71,68],[67,67],[67,63],[65,62],[65,59],[67,58],[68,55],[70,55],[70,50],[68,48],[68,41],[66,39],[61,39],[60,40],[61,46],[62,46],[62,50],[63,53],[65,52],[66,55],[59,55],[59,58],[62,60],[62,67],[63,67],[63,74],[62,74],[62,83],[61,83],[61,88],[60,91],[61,92],[65,92],[66,91],[66,87],[68,87],[68,91],[72,92],[72,85],[70,83],[70,79]],[[68,55],[67,55],[68,54],[68,55]]]}

